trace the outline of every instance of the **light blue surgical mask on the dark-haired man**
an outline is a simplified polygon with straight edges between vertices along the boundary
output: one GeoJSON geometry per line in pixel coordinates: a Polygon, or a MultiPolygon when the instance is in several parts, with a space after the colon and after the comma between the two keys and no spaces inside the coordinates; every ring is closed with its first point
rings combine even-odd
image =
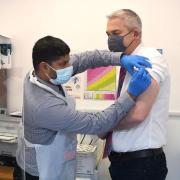
{"type": "Polygon", "coordinates": [[[52,78],[49,79],[49,81],[54,85],[60,85],[68,82],[73,74],[73,66],[69,66],[67,68],[58,69],[58,70],[55,70],[49,64],[48,66],[54,71],[56,71],[56,79],[52,79],[52,78]]]}

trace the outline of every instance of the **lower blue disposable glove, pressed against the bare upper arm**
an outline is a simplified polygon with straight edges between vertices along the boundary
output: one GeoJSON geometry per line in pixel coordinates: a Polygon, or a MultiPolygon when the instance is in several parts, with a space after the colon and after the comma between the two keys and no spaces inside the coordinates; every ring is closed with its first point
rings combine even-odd
{"type": "Polygon", "coordinates": [[[150,84],[151,76],[144,68],[141,68],[132,75],[128,86],[128,93],[133,96],[139,96],[150,86],[150,84]]]}

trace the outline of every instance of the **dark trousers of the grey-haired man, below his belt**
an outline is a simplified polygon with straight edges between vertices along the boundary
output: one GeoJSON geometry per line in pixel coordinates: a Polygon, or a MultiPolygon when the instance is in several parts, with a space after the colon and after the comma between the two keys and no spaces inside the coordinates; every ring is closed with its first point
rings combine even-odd
{"type": "Polygon", "coordinates": [[[112,180],[165,180],[167,176],[164,153],[146,158],[111,162],[112,180]]]}

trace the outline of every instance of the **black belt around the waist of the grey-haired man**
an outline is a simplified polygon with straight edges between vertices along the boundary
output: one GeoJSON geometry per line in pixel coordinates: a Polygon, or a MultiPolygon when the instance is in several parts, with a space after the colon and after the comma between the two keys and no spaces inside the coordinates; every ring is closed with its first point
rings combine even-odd
{"type": "Polygon", "coordinates": [[[112,151],[109,155],[109,160],[111,162],[130,160],[130,159],[138,159],[145,157],[157,156],[163,153],[163,148],[158,149],[144,149],[133,152],[114,152],[112,151]]]}

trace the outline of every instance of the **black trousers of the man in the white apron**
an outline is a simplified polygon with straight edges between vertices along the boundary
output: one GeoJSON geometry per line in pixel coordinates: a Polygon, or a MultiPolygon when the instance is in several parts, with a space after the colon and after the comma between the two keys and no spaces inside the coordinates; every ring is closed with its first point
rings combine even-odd
{"type": "Polygon", "coordinates": [[[39,180],[37,176],[31,176],[27,172],[24,172],[20,167],[14,169],[14,180],[39,180]]]}

